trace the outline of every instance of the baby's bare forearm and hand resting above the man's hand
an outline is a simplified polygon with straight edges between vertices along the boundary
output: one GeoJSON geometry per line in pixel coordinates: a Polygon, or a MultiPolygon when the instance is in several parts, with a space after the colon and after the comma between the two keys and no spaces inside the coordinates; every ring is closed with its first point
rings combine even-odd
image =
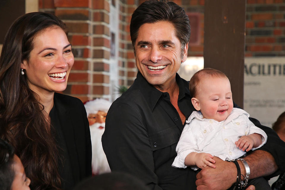
{"type": "Polygon", "coordinates": [[[184,165],[186,166],[196,165],[201,169],[203,169],[206,166],[216,168],[216,166],[213,165],[212,163],[215,163],[215,160],[213,160],[213,156],[211,154],[204,152],[202,153],[191,152],[186,156],[184,165]]]}

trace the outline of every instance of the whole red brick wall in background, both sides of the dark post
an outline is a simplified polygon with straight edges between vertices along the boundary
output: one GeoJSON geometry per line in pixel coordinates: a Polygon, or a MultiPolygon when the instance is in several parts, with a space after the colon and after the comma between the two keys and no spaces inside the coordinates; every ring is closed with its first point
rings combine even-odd
{"type": "MultiPolygon", "coordinates": [[[[39,0],[39,11],[55,14],[69,27],[68,39],[72,43],[75,64],[65,94],[83,102],[99,97],[114,100],[119,96],[114,89],[119,85],[129,87],[133,83],[137,68],[129,23],[133,11],[144,1],[39,0]],[[110,8],[118,10],[115,62],[111,52],[113,33],[110,31],[114,14],[110,8]]],[[[191,28],[192,35],[197,29],[197,40],[189,45],[188,56],[203,56],[205,0],[174,2],[184,7],[190,16],[198,17],[198,22],[191,28]]],[[[247,0],[245,24],[246,56],[285,55],[285,0],[247,0]]]]}

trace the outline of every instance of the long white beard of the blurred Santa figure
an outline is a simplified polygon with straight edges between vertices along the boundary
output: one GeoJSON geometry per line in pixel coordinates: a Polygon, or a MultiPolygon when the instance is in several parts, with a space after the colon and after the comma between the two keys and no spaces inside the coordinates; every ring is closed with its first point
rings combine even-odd
{"type": "Polygon", "coordinates": [[[94,123],[90,126],[90,136],[92,144],[92,173],[101,174],[110,172],[106,155],[102,148],[101,138],[105,131],[105,123],[94,123]],[[99,128],[99,127],[104,128],[99,128]]]}

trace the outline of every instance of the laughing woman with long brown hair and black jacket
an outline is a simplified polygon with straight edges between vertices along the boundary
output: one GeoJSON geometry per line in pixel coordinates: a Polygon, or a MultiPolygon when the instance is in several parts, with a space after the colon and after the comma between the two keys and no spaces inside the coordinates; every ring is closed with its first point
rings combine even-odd
{"type": "Polygon", "coordinates": [[[1,138],[15,147],[31,189],[72,189],[91,175],[83,103],[58,94],[74,63],[66,25],[34,12],[9,28],[0,58],[1,138]],[[7,126],[7,127],[3,127],[7,126]]]}

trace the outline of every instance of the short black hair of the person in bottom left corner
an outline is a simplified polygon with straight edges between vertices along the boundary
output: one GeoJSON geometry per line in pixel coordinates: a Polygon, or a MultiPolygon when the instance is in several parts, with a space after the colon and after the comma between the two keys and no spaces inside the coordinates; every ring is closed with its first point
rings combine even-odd
{"type": "Polygon", "coordinates": [[[14,180],[15,172],[12,167],[14,163],[14,149],[6,141],[0,139],[0,189],[10,190],[14,180]]]}

